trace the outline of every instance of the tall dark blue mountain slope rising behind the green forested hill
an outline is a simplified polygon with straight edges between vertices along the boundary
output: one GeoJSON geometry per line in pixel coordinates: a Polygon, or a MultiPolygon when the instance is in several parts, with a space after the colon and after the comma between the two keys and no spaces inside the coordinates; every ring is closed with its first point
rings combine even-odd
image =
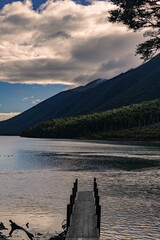
{"type": "Polygon", "coordinates": [[[22,130],[53,118],[77,116],[119,108],[160,98],[160,54],[109,80],[60,92],[22,114],[0,122],[1,135],[19,135],[22,130]]]}

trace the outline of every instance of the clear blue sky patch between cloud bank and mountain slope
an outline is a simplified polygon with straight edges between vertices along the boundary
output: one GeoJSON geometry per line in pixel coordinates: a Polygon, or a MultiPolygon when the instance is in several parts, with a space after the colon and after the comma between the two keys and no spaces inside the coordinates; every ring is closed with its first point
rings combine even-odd
{"type": "Polygon", "coordinates": [[[0,112],[23,112],[68,88],[60,84],[11,84],[0,82],[0,112]]]}

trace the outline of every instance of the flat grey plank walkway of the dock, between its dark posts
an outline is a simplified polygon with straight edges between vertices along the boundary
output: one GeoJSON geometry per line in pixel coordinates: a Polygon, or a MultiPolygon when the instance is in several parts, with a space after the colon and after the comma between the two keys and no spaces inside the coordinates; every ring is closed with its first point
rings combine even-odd
{"type": "Polygon", "coordinates": [[[98,240],[93,192],[78,192],[66,240],[98,240]]]}

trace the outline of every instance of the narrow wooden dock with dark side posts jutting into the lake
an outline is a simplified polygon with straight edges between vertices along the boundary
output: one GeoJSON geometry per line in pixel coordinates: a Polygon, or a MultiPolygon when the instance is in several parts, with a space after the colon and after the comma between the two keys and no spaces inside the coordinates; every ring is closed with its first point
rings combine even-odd
{"type": "Polygon", "coordinates": [[[101,208],[96,180],[93,192],[77,192],[76,184],[74,187],[67,206],[66,240],[99,240],[101,208]]]}

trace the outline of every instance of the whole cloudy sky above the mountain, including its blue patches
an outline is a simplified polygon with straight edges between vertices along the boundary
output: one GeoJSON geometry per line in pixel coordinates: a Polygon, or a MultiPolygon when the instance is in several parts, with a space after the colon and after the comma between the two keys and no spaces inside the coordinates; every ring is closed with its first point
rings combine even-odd
{"type": "Polygon", "coordinates": [[[107,0],[0,0],[0,121],[140,65],[143,33],[110,23],[114,8],[107,0]]]}

